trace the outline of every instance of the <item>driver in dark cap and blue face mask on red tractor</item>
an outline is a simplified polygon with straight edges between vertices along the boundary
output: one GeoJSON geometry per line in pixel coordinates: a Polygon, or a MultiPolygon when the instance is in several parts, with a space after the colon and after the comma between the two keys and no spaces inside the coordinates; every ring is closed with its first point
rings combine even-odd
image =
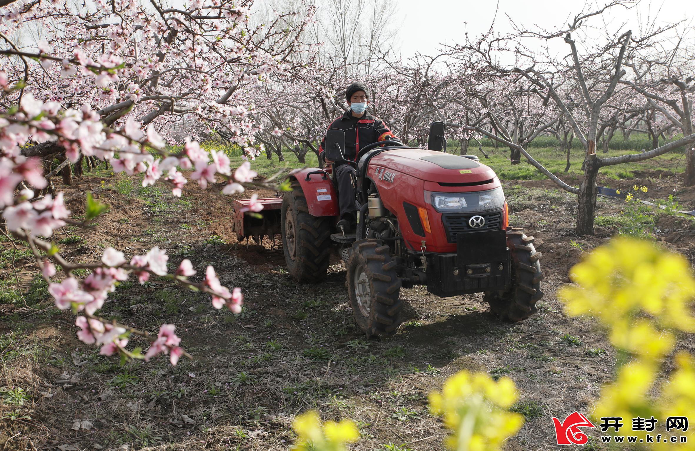
{"type": "MultiPolygon", "coordinates": [[[[345,159],[357,161],[359,150],[368,144],[379,141],[397,141],[384,121],[373,117],[367,112],[369,104],[369,91],[364,83],[352,83],[345,92],[347,105],[350,110],[338,119],[334,120],[328,127],[340,128],[345,130],[345,159]],[[355,130],[355,131],[353,131],[355,130]]],[[[326,164],[334,164],[332,160],[326,158],[326,139],[321,141],[320,158],[326,164]]],[[[355,180],[356,171],[350,164],[337,163],[333,167],[334,177],[338,184],[338,205],[340,206],[341,220],[338,221],[338,229],[345,232],[354,230],[355,219],[357,217],[357,203],[355,203],[355,180]]]]}

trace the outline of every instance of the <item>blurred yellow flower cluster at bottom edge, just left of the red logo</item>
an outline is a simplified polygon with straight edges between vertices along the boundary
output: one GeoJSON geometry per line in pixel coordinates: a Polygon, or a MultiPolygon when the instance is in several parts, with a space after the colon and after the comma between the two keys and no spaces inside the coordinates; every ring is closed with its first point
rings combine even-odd
{"type": "Polygon", "coordinates": [[[459,371],[442,391],[430,393],[430,409],[451,430],[445,445],[457,451],[499,450],[523,425],[523,416],[505,409],[518,399],[514,381],[497,382],[486,373],[459,371]]]}

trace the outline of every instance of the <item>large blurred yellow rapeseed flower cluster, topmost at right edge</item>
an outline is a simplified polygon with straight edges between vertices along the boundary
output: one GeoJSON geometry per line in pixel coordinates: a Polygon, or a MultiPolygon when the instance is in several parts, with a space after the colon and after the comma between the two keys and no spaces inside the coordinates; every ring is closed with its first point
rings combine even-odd
{"type": "Polygon", "coordinates": [[[669,331],[695,332],[695,278],[680,254],[619,237],[573,266],[570,276],[578,286],[558,293],[567,313],[598,318],[618,348],[659,358],[673,348],[669,331]]]}

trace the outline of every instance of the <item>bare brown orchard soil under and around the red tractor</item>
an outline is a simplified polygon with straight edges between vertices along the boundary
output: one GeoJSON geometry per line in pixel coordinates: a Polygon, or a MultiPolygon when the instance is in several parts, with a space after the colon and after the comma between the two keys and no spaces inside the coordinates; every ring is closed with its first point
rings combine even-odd
{"type": "MultiPolygon", "coordinates": [[[[695,189],[677,188],[674,178],[661,176],[602,182],[621,189],[645,185],[641,198],[674,194],[682,209],[695,208],[695,189]]],[[[436,298],[423,288],[403,289],[406,321],[384,340],[364,339],[354,325],[338,259],[325,282],[297,284],[284,269],[279,239],[260,246],[236,241],[229,198],[189,183],[177,201],[136,184],[104,173],[59,187],[73,214],[83,212],[86,192],[111,205],[99,230],[61,230],[56,242],[80,238],[59,244],[61,250],[72,261],[92,262],[108,246],[126,257],[160,246],[171,255],[170,268],[183,258],[199,273],[213,264],[223,284],[243,289],[244,312],[215,310],[208,296],[162,280],[125,282],[104,316],[151,332],[173,323],[195,359],[175,367],[165,357],[121,365],[76,339],[74,316],[51,307],[45,287],[33,279],[30,258],[20,255],[12,264],[11,252],[3,254],[0,287],[17,289],[19,281],[21,294],[0,305],[0,387],[26,393],[22,405],[6,398],[0,406],[3,450],[286,450],[292,420],[306,409],[356,420],[362,438],[352,450],[389,443],[441,450],[445,429],[428,412],[427,393],[462,368],[516,382],[517,409],[527,420],[507,449],[551,449],[551,417],[588,413],[612,377],[615,356],[605,332],[589,318],[567,317],[555,293],[569,282],[571,266],[617,230],[597,226],[593,237],[575,235],[575,198],[550,181],[505,182],[512,225],[536,237],[543,253],[545,296],[537,315],[501,323],[482,295],[436,298]],[[562,339],[566,334],[580,344],[562,339]],[[13,420],[12,412],[31,419],[13,420]]],[[[624,207],[621,199],[600,198],[597,215],[624,216],[624,207]]],[[[655,239],[692,262],[692,220],[656,213],[655,239]]],[[[0,246],[11,248],[7,241],[0,246]]],[[[135,339],[133,345],[146,343],[135,339]]],[[[681,346],[692,350],[692,337],[681,346]]],[[[601,449],[593,437],[591,444],[601,449]]]]}

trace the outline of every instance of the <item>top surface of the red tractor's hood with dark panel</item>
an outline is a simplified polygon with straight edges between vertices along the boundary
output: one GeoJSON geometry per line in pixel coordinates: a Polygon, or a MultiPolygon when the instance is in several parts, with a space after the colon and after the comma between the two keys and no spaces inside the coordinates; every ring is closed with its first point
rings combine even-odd
{"type": "Polygon", "coordinates": [[[372,166],[379,166],[391,171],[407,173],[426,182],[440,184],[477,185],[495,178],[495,171],[480,162],[459,155],[422,148],[395,148],[393,151],[385,151],[372,158],[369,165],[367,175],[370,175],[372,166]]]}

